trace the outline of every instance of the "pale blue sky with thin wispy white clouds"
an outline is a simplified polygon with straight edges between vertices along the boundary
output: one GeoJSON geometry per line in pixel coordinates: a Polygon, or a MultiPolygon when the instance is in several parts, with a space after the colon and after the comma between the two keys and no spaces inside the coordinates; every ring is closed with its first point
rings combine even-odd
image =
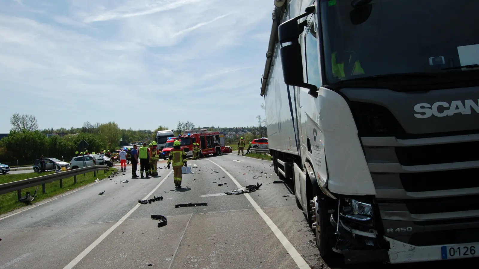
{"type": "Polygon", "coordinates": [[[0,0],[0,133],[257,125],[273,0],[0,0]]]}

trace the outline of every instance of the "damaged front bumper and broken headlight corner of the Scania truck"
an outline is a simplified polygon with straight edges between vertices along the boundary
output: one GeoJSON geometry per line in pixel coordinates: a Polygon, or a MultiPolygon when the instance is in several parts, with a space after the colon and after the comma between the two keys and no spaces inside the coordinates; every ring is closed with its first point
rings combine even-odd
{"type": "Polygon", "coordinates": [[[479,257],[479,242],[414,246],[390,238],[381,232],[382,219],[372,201],[364,199],[360,202],[350,198],[338,200],[337,210],[330,217],[331,224],[336,228],[337,239],[333,251],[342,254],[347,264],[411,263],[479,257]]]}

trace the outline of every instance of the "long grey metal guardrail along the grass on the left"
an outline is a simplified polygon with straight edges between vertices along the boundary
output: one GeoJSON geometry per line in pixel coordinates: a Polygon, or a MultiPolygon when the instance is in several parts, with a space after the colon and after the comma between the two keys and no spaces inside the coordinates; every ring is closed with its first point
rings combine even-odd
{"type": "Polygon", "coordinates": [[[18,199],[22,197],[22,189],[42,185],[43,193],[46,193],[45,184],[48,182],[60,180],[60,188],[63,188],[62,179],[74,177],[75,184],[77,183],[77,176],[80,174],[85,174],[88,172],[93,172],[93,175],[96,177],[96,171],[103,170],[104,173],[110,170],[110,167],[106,165],[94,165],[84,168],[72,169],[65,172],[58,172],[55,174],[40,176],[31,179],[23,179],[8,183],[0,184],[0,194],[5,194],[12,191],[17,191],[18,199]]]}

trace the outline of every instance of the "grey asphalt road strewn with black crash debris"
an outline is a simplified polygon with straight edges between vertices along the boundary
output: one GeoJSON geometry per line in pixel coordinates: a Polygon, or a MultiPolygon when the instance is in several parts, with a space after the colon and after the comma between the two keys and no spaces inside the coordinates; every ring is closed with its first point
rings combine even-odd
{"type": "Polygon", "coordinates": [[[125,175],[0,216],[0,269],[371,268],[319,257],[291,186],[273,183],[272,162],[228,154],[188,163],[194,174],[183,175],[182,189],[171,169],[131,179],[129,166],[125,175]],[[224,194],[256,182],[258,191],[224,194]],[[153,196],[163,201],[137,202],[153,196]],[[190,202],[207,206],[175,208],[190,202]],[[168,224],[159,228],[152,214],[168,224]]]}

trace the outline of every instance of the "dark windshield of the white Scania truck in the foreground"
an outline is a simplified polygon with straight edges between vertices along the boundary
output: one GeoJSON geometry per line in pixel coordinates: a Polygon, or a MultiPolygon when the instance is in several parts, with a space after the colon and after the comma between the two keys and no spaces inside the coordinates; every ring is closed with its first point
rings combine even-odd
{"type": "Polygon", "coordinates": [[[320,0],[329,84],[404,73],[477,76],[478,68],[460,66],[479,64],[479,1],[372,0],[369,17],[367,8],[350,15],[352,1],[320,0]]]}

